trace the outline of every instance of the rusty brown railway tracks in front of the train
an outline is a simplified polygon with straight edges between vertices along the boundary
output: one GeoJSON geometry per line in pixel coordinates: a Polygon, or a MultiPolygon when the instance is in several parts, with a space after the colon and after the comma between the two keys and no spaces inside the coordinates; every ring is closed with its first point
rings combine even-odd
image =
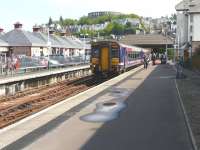
{"type": "Polygon", "coordinates": [[[70,81],[33,88],[0,98],[0,129],[55,103],[83,92],[106,79],[87,76],[70,81]]]}

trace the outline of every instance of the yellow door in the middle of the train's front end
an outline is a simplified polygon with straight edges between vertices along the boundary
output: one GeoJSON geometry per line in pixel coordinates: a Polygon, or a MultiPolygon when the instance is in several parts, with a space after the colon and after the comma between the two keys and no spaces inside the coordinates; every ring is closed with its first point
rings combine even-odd
{"type": "Polygon", "coordinates": [[[109,48],[104,47],[101,49],[101,69],[102,71],[109,70],[109,48]]]}

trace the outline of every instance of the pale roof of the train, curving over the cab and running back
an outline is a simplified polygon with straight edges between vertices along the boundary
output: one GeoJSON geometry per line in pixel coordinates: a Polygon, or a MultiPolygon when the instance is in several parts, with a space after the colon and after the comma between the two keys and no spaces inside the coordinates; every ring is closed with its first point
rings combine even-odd
{"type": "Polygon", "coordinates": [[[130,48],[130,51],[131,51],[131,49],[134,49],[134,51],[143,51],[143,52],[149,51],[148,49],[145,49],[145,48],[142,48],[142,47],[126,45],[126,44],[120,43],[120,42],[115,41],[115,40],[100,40],[100,41],[93,42],[92,45],[97,44],[97,43],[116,43],[120,47],[130,48]]]}

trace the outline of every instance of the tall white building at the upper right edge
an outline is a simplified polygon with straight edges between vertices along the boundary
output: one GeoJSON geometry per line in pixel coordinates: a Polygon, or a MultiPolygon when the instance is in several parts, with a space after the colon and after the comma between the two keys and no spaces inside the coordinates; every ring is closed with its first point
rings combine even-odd
{"type": "Polygon", "coordinates": [[[200,50],[200,1],[183,0],[176,5],[176,11],[176,43],[180,47],[180,55],[191,55],[200,50]]]}

